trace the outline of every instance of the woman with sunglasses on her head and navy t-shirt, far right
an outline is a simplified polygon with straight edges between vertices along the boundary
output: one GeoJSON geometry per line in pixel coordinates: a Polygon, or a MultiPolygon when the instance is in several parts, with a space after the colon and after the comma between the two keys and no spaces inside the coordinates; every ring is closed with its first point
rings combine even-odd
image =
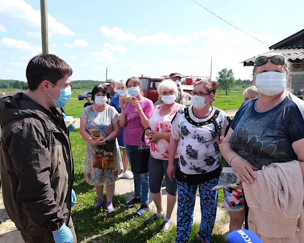
{"type": "MultiPolygon", "coordinates": [[[[243,181],[245,199],[247,199],[248,205],[260,197],[256,194],[246,194],[247,188],[254,188],[261,180],[264,180],[265,175],[260,175],[265,168],[271,168],[274,166],[273,163],[276,162],[304,161],[304,102],[289,92],[290,74],[291,64],[282,55],[269,53],[268,56],[258,57],[255,60],[253,69],[253,83],[257,86],[258,98],[247,100],[242,104],[222,142],[221,153],[232,167],[237,178],[243,181]],[[269,166],[270,164],[272,164],[271,167],[269,166]],[[259,177],[257,177],[257,174],[259,177]],[[250,186],[247,187],[247,185],[250,186]],[[249,199],[250,201],[248,201],[249,199]]],[[[303,162],[300,162],[296,166],[304,171],[303,164],[303,162]]],[[[296,176],[296,173],[299,173],[301,180],[301,171],[295,172],[294,175],[289,174],[289,176],[296,176]]],[[[274,176],[271,175],[271,178],[274,178],[274,176]]],[[[275,193],[276,195],[271,195],[267,190],[272,181],[274,179],[265,183],[264,190],[260,191],[260,193],[265,192],[265,197],[260,198],[261,205],[265,205],[269,198],[280,197],[280,193],[277,192],[277,194],[275,193]]],[[[284,184],[286,183],[282,183],[281,189],[286,186],[284,184]]],[[[301,191],[301,188],[299,190],[301,191]]],[[[289,196],[294,197],[296,195],[289,194],[289,196]]],[[[303,203],[303,198],[300,199],[300,207],[301,200],[303,203]]],[[[273,205],[272,208],[275,209],[276,206],[273,205]]],[[[252,209],[250,208],[250,210],[252,209]]],[[[246,206],[245,226],[248,228],[249,223],[250,230],[253,230],[255,227],[258,228],[258,226],[255,225],[257,223],[254,223],[256,221],[250,219],[250,212],[253,211],[249,211],[248,215],[248,210],[246,206]]],[[[283,206],[281,211],[284,212],[283,206]]],[[[269,213],[269,210],[267,213],[269,213]]],[[[275,215],[278,216],[279,213],[275,215]]],[[[299,216],[299,214],[297,215],[299,216]]],[[[256,217],[256,220],[258,218],[256,217]]],[[[274,218],[271,220],[273,223],[266,228],[275,232],[275,227],[278,224],[275,223],[274,218]]],[[[288,220],[288,217],[286,215],[285,218],[282,217],[280,225],[282,225],[282,220],[288,220]]],[[[262,228],[265,229],[265,227],[260,227],[259,232],[261,232],[262,228]]],[[[295,232],[296,229],[294,230],[295,232]]],[[[280,234],[284,235],[285,233],[281,232],[280,234]]],[[[277,241],[271,241],[270,238],[263,240],[263,242],[279,241],[281,242],[278,239],[277,241]]]]}

